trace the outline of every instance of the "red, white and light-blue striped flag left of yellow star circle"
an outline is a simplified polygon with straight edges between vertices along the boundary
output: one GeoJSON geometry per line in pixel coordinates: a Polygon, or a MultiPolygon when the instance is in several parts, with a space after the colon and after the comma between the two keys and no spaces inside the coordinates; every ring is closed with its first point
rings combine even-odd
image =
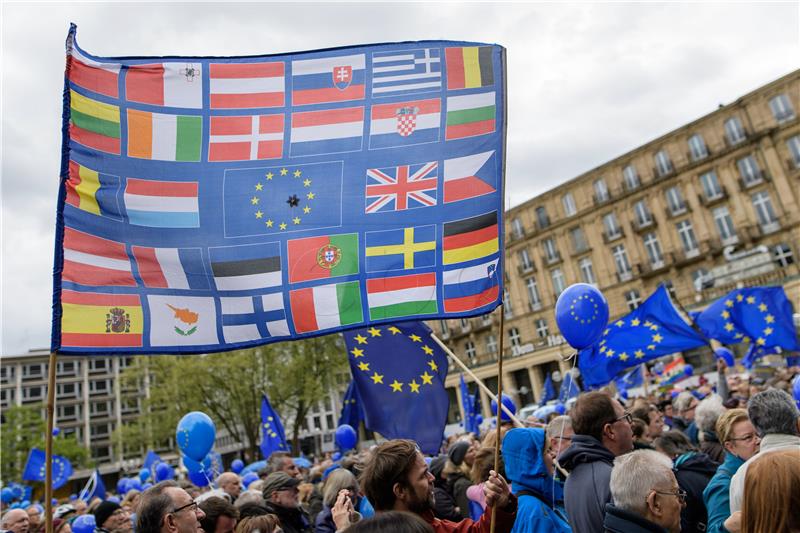
{"type": "Polygon", "coordinates": [[[128,221],[137,226],[200,227],[196,181],[128,178],[124,202],[128,221]]]}

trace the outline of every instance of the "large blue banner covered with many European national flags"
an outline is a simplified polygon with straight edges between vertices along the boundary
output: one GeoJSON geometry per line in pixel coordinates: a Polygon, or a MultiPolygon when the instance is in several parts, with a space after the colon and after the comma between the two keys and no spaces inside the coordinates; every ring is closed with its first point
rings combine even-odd
{"type": "Polygon", "coordinates": [[[111,58],[76,33],[53,351],[220,352],[500,304],[502,46],[111,58]]]}

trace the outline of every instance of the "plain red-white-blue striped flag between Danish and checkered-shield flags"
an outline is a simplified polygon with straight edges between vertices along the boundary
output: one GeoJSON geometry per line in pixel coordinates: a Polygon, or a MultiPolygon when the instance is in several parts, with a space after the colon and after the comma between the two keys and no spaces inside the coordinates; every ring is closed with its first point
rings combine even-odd
{"type": "Polygon", "coordinates": [[[292,113],[292,157],[361,150],[364,108],[292,113]]]}

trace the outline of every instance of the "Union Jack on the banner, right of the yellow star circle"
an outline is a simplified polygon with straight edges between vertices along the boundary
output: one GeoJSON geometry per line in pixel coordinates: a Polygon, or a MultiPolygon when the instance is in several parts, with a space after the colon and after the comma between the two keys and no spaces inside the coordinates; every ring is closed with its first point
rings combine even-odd
{"type": "Polygon", "coordinates": [[[436,161],[367,170],[367,213],[436,205],[436,161]]]}

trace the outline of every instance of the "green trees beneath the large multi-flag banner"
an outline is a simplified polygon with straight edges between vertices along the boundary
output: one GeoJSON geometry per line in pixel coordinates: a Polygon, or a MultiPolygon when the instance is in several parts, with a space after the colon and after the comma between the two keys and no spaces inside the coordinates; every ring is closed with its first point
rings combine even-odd
{"type": "Polygon", "coordinates": [[[122,386],[149,380],[150,396],[143,401],[142,415],[118,428],[114,438],[138,454],[167,442],[189,411],[203,411],[218,430],[227,429],[245,444],[249,460],[257,460],[261,395],[266,392],[284,424],[294,422],[297,449],[309,408],[333,390],[343,372],[347,358],[339,335],[211,355],[139,357],[123,373],[122,386]]]}

